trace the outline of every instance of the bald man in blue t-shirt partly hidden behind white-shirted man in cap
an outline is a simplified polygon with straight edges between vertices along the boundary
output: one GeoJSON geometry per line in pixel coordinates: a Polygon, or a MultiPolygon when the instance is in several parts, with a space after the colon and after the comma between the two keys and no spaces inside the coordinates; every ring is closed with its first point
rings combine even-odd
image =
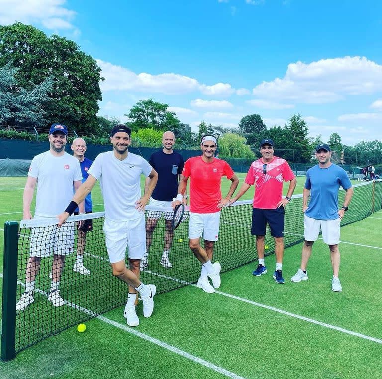
{"type": "MultiPolygon", "coordinates": [[[[86,142],[82,138],[76,138],[72,142],[71,149],[73,150],[73,156],[80,161],[82,183],[84,183],[88,178],[88,170],[93,163],[90,159],[85,158],[86,142]]],[[[92,213],[92,195],[90,193],[85,197],[85,213],[92,213]]],[[[79,214],[78,208],[74,212],[74,215],[77,214],[79,214]]],[[[92,219],[85,220],[82,225],[79,225],[77,228],[77,257],[73,271],[83,275],[90,274],[90,271],[84,266],[84,252],[86,233],[92,231],[92,229],[92,219]]]]}

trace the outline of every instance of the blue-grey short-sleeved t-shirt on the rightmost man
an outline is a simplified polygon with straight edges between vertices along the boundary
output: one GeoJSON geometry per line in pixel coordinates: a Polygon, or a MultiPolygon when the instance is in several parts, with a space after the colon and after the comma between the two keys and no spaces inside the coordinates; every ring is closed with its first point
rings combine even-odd
{"type": "Polygon", "coordinates": [[[306,172],[305,188],[310,189],[310,202],[305,214],[316,220],[338,218],[338,190],[352,187],[346,171],[331,164],[327,168],[313,166],[306,172]]]}

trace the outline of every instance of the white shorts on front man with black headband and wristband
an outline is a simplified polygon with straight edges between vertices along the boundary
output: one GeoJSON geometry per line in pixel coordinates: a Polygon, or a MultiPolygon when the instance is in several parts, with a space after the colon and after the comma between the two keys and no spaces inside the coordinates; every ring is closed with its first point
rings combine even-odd
{"type": "Polygon", "coordinates": [[[103,231],[110,263],[124,261],[129,247],[130,259],[142,259],[146,250],[145,218],[130,221],[111,221],[105,218],[103,231]]]}

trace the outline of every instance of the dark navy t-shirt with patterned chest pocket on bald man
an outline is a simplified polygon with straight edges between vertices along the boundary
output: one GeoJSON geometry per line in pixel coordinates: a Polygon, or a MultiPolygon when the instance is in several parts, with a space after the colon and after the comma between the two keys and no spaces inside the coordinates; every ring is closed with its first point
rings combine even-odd
{"type": "Polygon", "coordinates": [[[185,165],[183,157],[175,151],[165,154],[161,150],[151,154],[149,163],[158,173],[158,182],[151,197],[158,201],[173,201],[178,193],[178,175],[185,165]]]}

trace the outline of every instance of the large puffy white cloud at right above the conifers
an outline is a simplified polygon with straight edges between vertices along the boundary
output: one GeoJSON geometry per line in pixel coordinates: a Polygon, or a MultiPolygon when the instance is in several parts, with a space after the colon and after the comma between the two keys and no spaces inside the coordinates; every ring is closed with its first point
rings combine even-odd
{"type": "Polygon", "coordinates": [[[284,78],[262,82],[253,95],[300,103],[329,103],[345,95],[373,94],[382,89],[382,65],[365,57],[321,59],[288,65],[284,78]]]}

